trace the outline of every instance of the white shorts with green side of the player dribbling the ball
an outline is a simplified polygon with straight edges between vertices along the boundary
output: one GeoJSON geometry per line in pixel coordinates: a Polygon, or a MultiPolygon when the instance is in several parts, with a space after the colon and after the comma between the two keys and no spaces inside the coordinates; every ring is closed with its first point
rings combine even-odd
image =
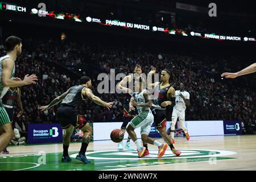
{"type": "Polygon", "coordinates": [[[151,130],[151,126],[154,122],[154,115],[151,113],[151,110],[142,111],[135,118],[131,119],[131,126],[134,129],[141,127],[141,135],[148,135],[151,130]]]}

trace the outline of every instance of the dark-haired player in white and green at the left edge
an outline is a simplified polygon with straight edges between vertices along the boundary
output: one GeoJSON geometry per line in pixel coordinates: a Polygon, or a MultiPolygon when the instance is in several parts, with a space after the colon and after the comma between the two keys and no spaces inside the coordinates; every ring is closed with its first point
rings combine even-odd
{"type": "Polygon", "coordinates": [[[22,52],[22,40],[16,36],[9,36],[5,40],[7,54],[0,58],[0,151],[6,148],[7,144],[14,137],[13,127],[10,118],[2,105],[2,98],[10,87],[36,84],[35,75],[26,75],[23,80],[13,78],[15,72],[15,60],[22,52]],[[13,78],[13,79],[12,79],[13,78]]]}

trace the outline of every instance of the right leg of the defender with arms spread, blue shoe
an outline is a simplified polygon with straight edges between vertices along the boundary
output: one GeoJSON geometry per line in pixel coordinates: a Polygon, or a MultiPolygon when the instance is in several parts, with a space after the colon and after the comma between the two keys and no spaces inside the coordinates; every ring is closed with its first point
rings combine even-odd
{"type": "Polygon", "coordinates": [[[92,139],[93,130],[82,115],[79,115],[79,121],[80,126],[78,128],[82,130],[84,135],[82,136],[81,148],[79,151],[79,155],[76,156],[76,159],[81,160],[84,163],[90,163],[90,160],[88,160],[85,156],[85,152],[90,143],[90,140],[92,139]]]}

